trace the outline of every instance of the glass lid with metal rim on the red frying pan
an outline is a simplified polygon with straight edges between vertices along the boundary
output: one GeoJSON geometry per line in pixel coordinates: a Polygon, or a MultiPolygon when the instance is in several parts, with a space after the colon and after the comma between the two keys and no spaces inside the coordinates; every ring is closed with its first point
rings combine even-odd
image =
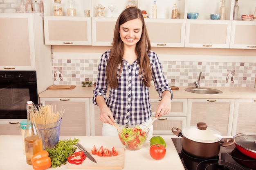
{"type": "Polygon", "coordinates": [[[233,139],[237,145],[256,153],[256,133],[238,133],[233,139]]]}

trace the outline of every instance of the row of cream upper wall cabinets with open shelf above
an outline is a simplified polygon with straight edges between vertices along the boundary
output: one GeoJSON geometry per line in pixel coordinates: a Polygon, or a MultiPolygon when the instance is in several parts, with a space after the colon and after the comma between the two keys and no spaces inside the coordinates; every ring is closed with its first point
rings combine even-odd
{"type": "MultiPolygon", "coordinates": [[[[127,1],[75,0],[75,17],[67,16],[67,1],[62,1],[62,17],[53,16],[53,0],[45,1],[45,43],[52,45],[111,46],[115,21],[119,14],[126,8],[127,1]],[[104,17],[96,17],[95,11],[99,4],[105,7],[104,17]],[[116,6],[113,11],[113,17],[111,17],[111,11],[108,8],[110,4],[115,4],[116,6]],[[90,9],[90,17],[84,17],[85,9],[90,9]],[[52,22],[49,22],[49,20],[52,22]],[[60,22],[60,24],[53,22],[53,20],[65,22],[60,22]],[[90,20],[92,27],[90,27],[90,20]],[[83,21],[86,22],[86,26],[83,21]]],[[[157,1],[156,19],[152,19],[153,1],[135,0],[135,2],[139,9],[145,10],[148,14],[149,18],[145,18],[145,22],[151,45],[154,47],[253,49],[255,46],[255,40],[251,39],[253,37],[252,35],[255,35],[255,31],[252,31],[255,29],[254,21],[242,21],[241,15],[253,14],[256,7],[256,0],[238,1],[238,20],[240,21],[233,21],[235,0],[225,0],[225,7],[227,9],[225,20],[210,19],[210,14],[220,13],[222,0],[157,1]],[[173,4],[177,4],[178,19],[171,19],[173,4]],[[187,19],[187,13],[189,12],[198,12],[198,18],[196,20],[187,19]],[[243,37],[240,37],[240,32],[243,29],[249,29],[249,31],[243,34],[243,37]],[[250,31],[253,34],[249,33],[250,31]],[[241,44],[244,44],[244,46],[241,44]]]]}

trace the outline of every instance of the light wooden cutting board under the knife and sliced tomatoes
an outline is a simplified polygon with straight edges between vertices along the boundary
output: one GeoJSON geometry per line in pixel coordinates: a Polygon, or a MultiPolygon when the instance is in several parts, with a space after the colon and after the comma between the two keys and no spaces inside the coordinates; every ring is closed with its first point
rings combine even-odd
{"type": "MultiPolygon", "coordinates": [[[[92,148],[85,148],[91,155],[92,148]]],[[[111,150],[112,148],[108,148],[111,150]]],[[[94,170],[121,170],[124,167],[124,148],[115,148],[118,152],[117,156],[99,157],[92,155],[97,163],[86,158],[80,165],[68,163],[67,169],[94,169],[94,170]]]]}

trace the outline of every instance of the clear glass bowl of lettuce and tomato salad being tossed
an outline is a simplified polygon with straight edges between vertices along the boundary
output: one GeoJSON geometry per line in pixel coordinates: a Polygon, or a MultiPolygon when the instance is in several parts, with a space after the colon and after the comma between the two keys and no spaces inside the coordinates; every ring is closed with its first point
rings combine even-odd
{"type": "MultiPolygon", "coordinates": [[[[146,126],[145,126],[146,127],[146,126]]],[[[148,133],[143,131],[138,125],[136,127],[124,127],[118,136],[124,146],[129,150],[138,150],[147,139],[148,133]]]]}

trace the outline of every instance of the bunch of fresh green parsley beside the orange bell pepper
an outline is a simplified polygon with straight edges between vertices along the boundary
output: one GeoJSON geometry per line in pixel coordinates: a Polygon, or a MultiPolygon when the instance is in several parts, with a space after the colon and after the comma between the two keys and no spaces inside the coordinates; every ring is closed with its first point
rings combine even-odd
{"type": "Polygon", "coordinates": [[[54,146],[54,148],[49,149],[45,148],[45,150],[49,153],[49,157],[52,161],[52,168],[56,168],[57,166],[61,166],[61,164],[66,164],[67,157],[72,155],[76,151],[77,142],[79,139],[64,139],[59,140],[58,144],[54,146]]]}

